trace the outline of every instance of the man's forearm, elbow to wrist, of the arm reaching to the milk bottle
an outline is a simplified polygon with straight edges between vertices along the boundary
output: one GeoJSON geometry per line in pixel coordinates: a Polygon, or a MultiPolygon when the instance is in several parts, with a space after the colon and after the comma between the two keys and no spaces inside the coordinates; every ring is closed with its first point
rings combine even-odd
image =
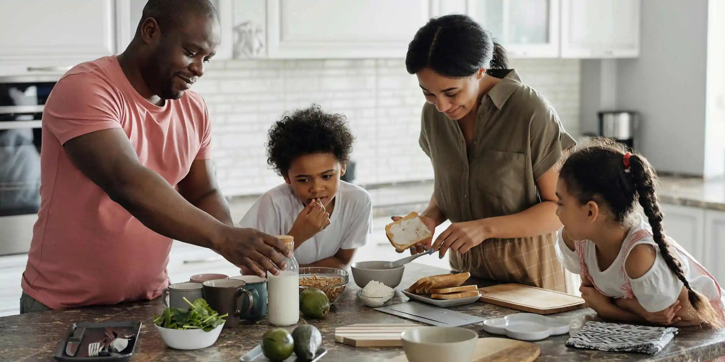
{"type": "Polygon", "coordinates": [[[174,240],[215,248],[225,225],[188,203],[159,174],[135,167],[124,179],[101,188],[138,221],[174,240]]]}

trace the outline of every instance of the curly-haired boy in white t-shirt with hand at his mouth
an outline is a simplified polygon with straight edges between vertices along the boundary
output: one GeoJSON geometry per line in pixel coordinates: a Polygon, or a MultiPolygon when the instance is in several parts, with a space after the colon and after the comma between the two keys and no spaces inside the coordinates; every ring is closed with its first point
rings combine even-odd
{"type": "Polygon", "coordinates": [[[268,163],[285,183],[262,195],[239,226],[293,236],[300,266],[347,267],[372,224],[370,194],[340,180],[353,140],[345,117],[319,106],[276,122],[269,130],[268,163]]]}

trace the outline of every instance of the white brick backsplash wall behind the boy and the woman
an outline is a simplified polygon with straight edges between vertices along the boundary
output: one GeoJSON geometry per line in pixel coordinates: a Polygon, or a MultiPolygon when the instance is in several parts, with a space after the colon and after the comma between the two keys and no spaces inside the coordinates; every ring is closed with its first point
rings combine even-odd
{"type": "MultiPolygon", "coordinates": [[[[567,132],[579,132],[579,61],[513,59],[524,83],[547,97],[567,132]]],[[[212,154],[228,196],[283,182],[267,164],[267,131],[285,112],[319,104],[347,117],[355,135],[355,182],[429,180],[418,146],[425,103],[403,59],[212,61],[194,85],[212,119],[212,154]]]]}

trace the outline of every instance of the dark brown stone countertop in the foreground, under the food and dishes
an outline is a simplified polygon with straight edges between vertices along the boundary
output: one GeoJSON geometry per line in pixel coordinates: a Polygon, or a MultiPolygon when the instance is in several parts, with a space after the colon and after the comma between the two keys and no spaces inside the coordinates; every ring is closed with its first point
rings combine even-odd
{"type": "MultiPolygon", "coordinates": [[[[394,303],[407,301],[399,292],[416,279],[427,275],[448,272],[423,264],[408,264],[394,303]]],[[[490,285],[476,279],[479,285],[490,285]]],[[[334,342],[335,327],[355,323],[402,323],[411,322],[386,313],[368,308],[355,296],[357,286],[350,281],[344,296],[331,308],[327,318],[321,321],[308,320],[323,334],[323,346],[328,354],[322,361],[368,362],[386,361],[402,354],[402,348],[352,348],[334,342]]],[[[97,306],[75,308],[67,311],[31,313],[20,316],[7,316],[0,319],[0,360],[2,361],[54,361],[52,355],[57,348],[66,328],[73,321],[125,321],[139,320],[144,323],[141,337],[136,346],[133,361],[239,361],[239,357],[254,348],[262,334],[271,328],[263,319],[256,324],[247,324],[233,329],[224,329],[219,339],[210,348],[202,350],[173,350],[167,348],[158,332],[152,326],[152,315],[161,311],[160,300],[138,303],[123,303],[116,306],[97,306]]],[[[451,308],[486,318],[505,316],[515,311],[491,304],[476,302],[468,306],[451,308]]],[[[594,311],[589,308],[552,315],[555,318],[571,321],[572,332],[581,329],[584,322],[596,320],[594,311]]],[[[305,319],[300,319],[305,323],[305,319]]],[[[494,337],[481,330],[481,324],[467,328],[479,331],[481,337],[494,337]]],[[[291,329],[291,328],[290,328],[291,329]]],[[[497,337],[497,336],[495,336],[497,337]]],[[[534,342],[541,348],[538,361],[705,361],[718,355],[725,355],[725,330],[714,332],[710,329],[689,327],[680,329],[674,340],[655,356],[636,353],[608,353],[595,350],[567,348],[564,345],[568,335],[550,337],[534,342]]]]}

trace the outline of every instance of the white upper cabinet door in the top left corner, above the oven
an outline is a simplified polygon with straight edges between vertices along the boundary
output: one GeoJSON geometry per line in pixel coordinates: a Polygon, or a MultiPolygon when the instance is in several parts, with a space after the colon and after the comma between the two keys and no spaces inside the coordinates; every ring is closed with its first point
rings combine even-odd
{"type": "Polygon", "coordinates": [[[115,0],[1,1],[0,62],[67,67],[115,52],[115,0]]]}

